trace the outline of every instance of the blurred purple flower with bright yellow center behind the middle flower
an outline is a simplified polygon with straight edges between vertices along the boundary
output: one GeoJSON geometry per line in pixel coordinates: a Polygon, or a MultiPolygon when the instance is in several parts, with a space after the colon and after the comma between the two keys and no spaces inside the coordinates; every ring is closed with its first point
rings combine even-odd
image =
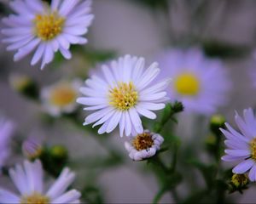
{"type": "Polygon", "coordinates": [[[208,59],[199,48],[172,49],[159,57],[164,77],[172,77],[168,96],[179,100],[185,111],[209,115],[224,105],[230,80],[218,59],[208,59]]]}

